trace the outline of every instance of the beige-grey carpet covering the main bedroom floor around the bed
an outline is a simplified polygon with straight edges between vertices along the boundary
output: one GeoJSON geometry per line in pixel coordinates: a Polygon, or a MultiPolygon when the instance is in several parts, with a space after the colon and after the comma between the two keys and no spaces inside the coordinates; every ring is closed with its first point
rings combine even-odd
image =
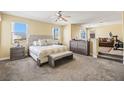
{"type": "Polygon", "coordinates": [[[124,65],[104,59],[74,55],[56,68],[38,67],[32,58],[0,63],[0,80],[124,80],[124,65]]]}

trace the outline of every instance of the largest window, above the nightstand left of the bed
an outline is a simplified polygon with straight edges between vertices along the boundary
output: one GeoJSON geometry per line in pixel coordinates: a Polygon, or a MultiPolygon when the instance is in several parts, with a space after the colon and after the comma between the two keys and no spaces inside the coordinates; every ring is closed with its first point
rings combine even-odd
{"type": "Polygon", "coordinates": [[[27,36],[27,24],[14,22],[12,24],[12,39],[13,43],[16,41],[26,40],[27,36]]]}

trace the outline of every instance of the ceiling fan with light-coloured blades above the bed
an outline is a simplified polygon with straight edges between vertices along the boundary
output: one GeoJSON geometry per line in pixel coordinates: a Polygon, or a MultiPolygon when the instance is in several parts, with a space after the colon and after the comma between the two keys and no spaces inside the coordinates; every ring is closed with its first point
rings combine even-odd
{"type": "Polygon", "coordinates": [[[67,22],[67,18],[69,18],[71,16],[64,16],[63,12],[62,11],[58,11],[55,15],[55,21],[65,21],[67,22]]]}

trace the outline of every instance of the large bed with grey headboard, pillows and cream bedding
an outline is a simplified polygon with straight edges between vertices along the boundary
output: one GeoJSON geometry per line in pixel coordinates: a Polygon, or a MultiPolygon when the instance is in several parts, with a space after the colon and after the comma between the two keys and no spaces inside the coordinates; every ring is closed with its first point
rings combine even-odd
{"type": "Polygon", "coordinates": [[[68,51],[65,45],[59,45],[52,36],[45,35],[31,35],[28,47],[29,55],[40,65],[48,62],[49,55],[68,51]]]}

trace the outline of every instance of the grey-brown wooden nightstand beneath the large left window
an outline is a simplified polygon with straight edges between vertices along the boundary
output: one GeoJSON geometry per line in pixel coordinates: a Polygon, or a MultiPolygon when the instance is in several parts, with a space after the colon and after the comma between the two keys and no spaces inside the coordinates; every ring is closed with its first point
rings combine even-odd
{"type": "Polygon", "coordinates": [[[25,58],[25,47],[10,48],[10,60],[18,60],[25,58]]]}

